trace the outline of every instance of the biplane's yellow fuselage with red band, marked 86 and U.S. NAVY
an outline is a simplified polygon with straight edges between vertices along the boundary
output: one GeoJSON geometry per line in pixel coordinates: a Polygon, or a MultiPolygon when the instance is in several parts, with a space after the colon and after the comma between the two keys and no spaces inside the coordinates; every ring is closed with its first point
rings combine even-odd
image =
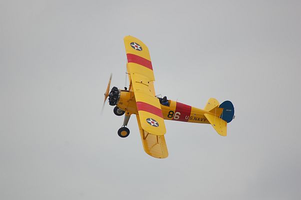
{"type": "MultiPolygon", "coordinates": [[[[210,123],[204,113],[212,114],[203,109],[192,107],[174,100],[168,100],[169,106],[161,105],[163,118],[165,120],[184,121],[192,123],[210,123]]],[[[130,90],[120,90],[120,97],[117,106],[125,111],[125,114],[138,114],[134,92],[130,90]]]]}

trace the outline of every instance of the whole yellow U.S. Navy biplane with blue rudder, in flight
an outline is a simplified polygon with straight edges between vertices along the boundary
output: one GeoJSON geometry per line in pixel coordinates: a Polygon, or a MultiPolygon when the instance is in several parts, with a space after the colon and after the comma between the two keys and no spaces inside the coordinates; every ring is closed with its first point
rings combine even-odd
{"type": "MultiPolygon", "coordinates": [[[[215,98],[209,98],[204,109],[199,109],[174,100],[155,95],[154,75],[147,46],[132,36],[124,37],[127,57],[129,88],[110,88],[109,79],[104,93],[109,104],[115,106],[114,113],[124,115],[122,127],[118,129],[120,137],[127,137],[126,127],[131,114],[135,114],[140,130],[144,151],[156,158],[168,156],[164,134],[164,119],[192,123],[209,123],[216,132],[226,136],[227,123],[234,118],[234,107],[230,101],[219,104],[215,98]]],[[[103,104],[104,104],[103,102],[103,104]]]]}

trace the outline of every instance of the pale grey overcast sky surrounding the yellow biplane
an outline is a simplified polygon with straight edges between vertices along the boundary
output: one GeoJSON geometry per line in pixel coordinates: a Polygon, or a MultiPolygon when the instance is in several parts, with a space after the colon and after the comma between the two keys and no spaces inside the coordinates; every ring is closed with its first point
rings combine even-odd
{"type": "MultiPolygon", "coordinates": [[[[297,0],[0,2],[0,199],[300,199],[297,0]],[[231,100],[228,136],[165,121],[166,159],[106,104],[123,36],[149,48],[156,93],[231,100]]],[[[128,82],[128,81],[127,81],[128,82]]]]}

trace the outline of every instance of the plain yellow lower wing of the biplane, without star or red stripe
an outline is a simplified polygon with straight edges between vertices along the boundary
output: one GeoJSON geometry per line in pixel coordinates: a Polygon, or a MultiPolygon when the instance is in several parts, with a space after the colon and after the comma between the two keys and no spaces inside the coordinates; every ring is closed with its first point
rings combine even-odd
{"type": "Polygon", "coordinates": [[[139,115],[136,115],[143,144],[144,151],[156,158],[165,158],[168,156],[168,150],[164,135],[153,135],[143,130],[140,124],[139,115]]]}

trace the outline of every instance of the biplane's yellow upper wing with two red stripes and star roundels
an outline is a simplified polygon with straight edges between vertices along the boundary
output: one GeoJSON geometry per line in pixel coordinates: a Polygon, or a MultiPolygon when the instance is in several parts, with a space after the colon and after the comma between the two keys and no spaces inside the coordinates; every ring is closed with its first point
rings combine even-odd
{"type": "Polygon", "coordinates": [[[127,72],[135,94],[141,128],[150,134],[166,132],[161,106],[154,96],[154,76],[147,46],[132,36],[124,37],[127,72]]]}

